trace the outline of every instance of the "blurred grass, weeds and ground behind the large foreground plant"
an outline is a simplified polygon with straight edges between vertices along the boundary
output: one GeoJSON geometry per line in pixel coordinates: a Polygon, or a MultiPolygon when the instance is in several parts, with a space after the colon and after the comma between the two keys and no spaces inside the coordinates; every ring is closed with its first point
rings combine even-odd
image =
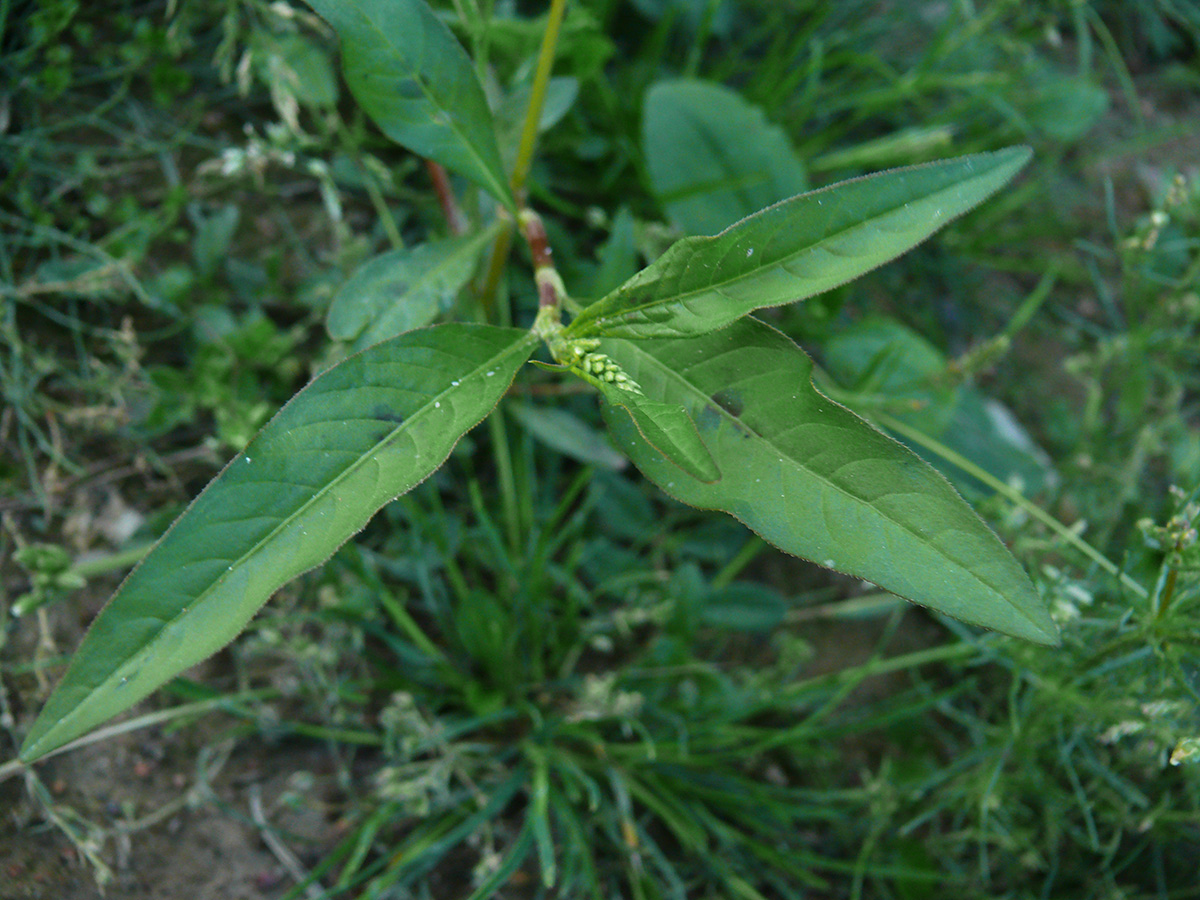
{"type": "MultiPolygon", "coordinates": [[[[541,5],[434,6],[514,154],[541,5]]],[[[299,2],[12,0],[0,29],[14,752],[146,542],[348,350],[350,274],[457,226],[299,2]]],[[[977,504],[1063,647],[673,504],[593,401],[551,418],[518,383],[152,724],[0,784],[0,898],[1200,895],[1200,13],[576,0],[554,73],[529,190],[584,298],[804,184],[1033,146],[926,246],[769,318],[977,504]],[[726,179],[672,181],[701,146],[680,84],[726,179]],[[737,181],[754,154],[778,196],[737,181]]]]}

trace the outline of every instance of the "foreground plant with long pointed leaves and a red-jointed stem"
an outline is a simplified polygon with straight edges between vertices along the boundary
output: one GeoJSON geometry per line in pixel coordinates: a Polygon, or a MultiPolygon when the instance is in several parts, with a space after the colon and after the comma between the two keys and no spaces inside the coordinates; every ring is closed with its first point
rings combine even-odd
{"type": "MultiPolygon", "coordinates": [[[[224,646],[277,587],[322,563],[376,510],[437,469],[539,343],[548,350],[542,368],[600,392],[617,445],[668,493],[722,509],[791,553],[966,622],[1056,640],[1020,566],[953,490],[818,394],[806,356],[748,318],[902,253],[998,190],[1027,150],[797,196],[714,238],[677,242],[606,296],[578,306],[550,262],[540,218],[517,199],[558,19],[547,25],[506,179],[470,61],[424,2],[312,5],[338,32],[346,80],[384,133],[496,198],[502,224],[492,272],[520,226],[534,260],[536,319],[529,329],[448,323],[407,330],[298,394],[97,617],[22,760],[61,746],[224,646]],[[566,325],[564,306],[575,313],[566,325]]],[[[560,5],[556,10],[560,14],[560,5]]],[[[444,254],[458,272],[469,256],[428,252],[444,254]]],[[[416,263],[408,254],[388,265],[400,277],[416,263]]],[[[494,314],[491,294],[484,300],[494,314]]],[[[437,312],[436,304],[430,308],[437,312]]]]}

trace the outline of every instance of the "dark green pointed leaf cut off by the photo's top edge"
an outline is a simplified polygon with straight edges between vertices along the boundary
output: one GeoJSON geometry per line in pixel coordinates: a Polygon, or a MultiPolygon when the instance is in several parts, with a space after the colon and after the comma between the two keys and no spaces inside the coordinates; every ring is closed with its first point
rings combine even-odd
{"type": "Polygon", "coordinates": [[[359,106],[389,138],[487,188],[510,211],[496,126],[466,50],[424,0],[306,0],[337,32],[359,106]]]}

